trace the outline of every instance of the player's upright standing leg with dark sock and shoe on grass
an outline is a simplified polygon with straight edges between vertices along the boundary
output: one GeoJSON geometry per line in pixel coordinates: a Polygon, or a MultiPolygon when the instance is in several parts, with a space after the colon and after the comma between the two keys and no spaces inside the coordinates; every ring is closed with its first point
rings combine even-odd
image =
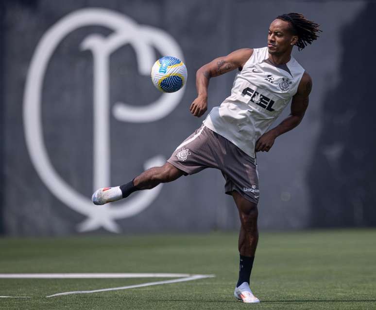
{"type": "Polygon", "coordinates": [[[237,191],[233,191],[232,196],[238,207],[241,222],[239,233],[239,280],[234,294],[243,302],[259,302],[249,288],[250,276],[258,241],[257,204],[245,199],[237,191]]]}

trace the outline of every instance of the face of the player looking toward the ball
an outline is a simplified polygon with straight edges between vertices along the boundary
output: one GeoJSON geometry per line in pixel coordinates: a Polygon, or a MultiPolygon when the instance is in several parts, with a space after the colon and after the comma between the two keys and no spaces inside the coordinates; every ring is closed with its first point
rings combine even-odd
{"type": "Polygon", "coordinates": [[[279,55],[288,51],[297,41],[298,37],[291,33],[290,23],[282,19],[274,19],[269,27],[268,50],[269,53],[279,55]]]}

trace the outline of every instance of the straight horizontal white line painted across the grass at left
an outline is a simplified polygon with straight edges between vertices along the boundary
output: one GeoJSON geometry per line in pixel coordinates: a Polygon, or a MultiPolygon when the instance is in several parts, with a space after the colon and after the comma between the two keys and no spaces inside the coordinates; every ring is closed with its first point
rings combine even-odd
{"type": "Polygon", "coordinates": [[[179,278],[188,273],[1,273],[0,279],[127,279],[179,278]]]}

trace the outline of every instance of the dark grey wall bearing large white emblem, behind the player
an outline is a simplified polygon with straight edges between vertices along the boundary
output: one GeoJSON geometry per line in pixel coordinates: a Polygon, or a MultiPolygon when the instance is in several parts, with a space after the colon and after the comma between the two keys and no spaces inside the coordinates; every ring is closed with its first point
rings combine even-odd
{"type": "MultiPolygon", "coordinates": [[[[374,1],[2,0],[0,234],[237,230],[216,170],[101,208],[91,195],[169,158],[206,115],[188,111],[196,70],[265,47],[271,21],[290,12],[323,32],[293,53],[313,79],[303,122],[257,153],[259,226],[376,226],[374,1]],[[184,60],[188,82],[162,97],[149,73],[166,54],[184,60]]],[[[210,81],[209,111],[234,76],[210,81]]]]}

